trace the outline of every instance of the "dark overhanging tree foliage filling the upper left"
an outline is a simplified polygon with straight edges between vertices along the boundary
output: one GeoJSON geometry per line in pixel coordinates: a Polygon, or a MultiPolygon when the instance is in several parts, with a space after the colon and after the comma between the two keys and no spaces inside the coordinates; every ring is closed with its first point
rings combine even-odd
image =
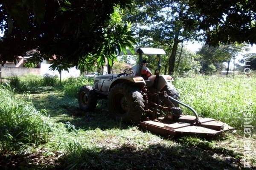
{"type": "Polygon", "coordinates": [[[37,49],[47,58],[56,55],[52,68],[102,64],[105,57],[111,61],[116,49],[136,43],[127,23],[111,23],[115,6],[131,8],[131,0],[3,0],[0,59],[14,60],[37,49]]]}

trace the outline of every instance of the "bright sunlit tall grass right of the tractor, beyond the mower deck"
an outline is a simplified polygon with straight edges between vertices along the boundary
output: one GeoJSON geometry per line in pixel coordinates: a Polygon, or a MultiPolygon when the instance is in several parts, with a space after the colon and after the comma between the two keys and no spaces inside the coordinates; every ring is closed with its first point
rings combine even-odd
{"type": "MultiPolygon", "coordinates": [[[[193,77],[177,78],[174,85],[180,91],[180,100],[195,108],[199,116],[211,117],[241,128],[244,110],[251,109],[250,125],[256,126],[255,77],[193,77]]],[[[184,108],[184,112],[189,112],[184,108]]]]}

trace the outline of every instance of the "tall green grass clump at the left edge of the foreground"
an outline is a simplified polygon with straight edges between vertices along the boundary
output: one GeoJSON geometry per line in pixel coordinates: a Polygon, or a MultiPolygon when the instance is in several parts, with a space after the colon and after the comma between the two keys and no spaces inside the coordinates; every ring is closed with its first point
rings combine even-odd
{"type": "Polygon", "coordinates": [[[9,153],[47,142],[51,124],[45,111],[18,99],[10,86],[0,86],[0,150],[9,153]]]}

